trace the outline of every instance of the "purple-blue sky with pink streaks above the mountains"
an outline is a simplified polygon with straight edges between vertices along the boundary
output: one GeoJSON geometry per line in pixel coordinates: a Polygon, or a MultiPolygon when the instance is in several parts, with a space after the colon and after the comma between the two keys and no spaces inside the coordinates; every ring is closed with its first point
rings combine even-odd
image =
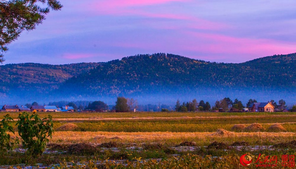
{"type": "Polygon", "coordinates": [[[294,0],[60,0],[8,63],[100,62],[147,53],[239,63],[296,52],[294,0]]]}

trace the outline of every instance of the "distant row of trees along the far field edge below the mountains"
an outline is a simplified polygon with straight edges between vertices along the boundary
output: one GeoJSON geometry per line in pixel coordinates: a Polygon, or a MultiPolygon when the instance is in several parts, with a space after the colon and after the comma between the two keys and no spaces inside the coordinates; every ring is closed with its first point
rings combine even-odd
{"type": "MultiPolygon", "coordinates": [[[[277,102],[275,100],[267,101],[275,106],[275,109],[282,111],[287,108],[286,102],[281,99],[277,102]]],[[[94,110],[96,112],[105,112],[105,111],[113,111],[113,112],[133,112],[134,110],[138,111],[176,111],[176,112],[197,112],[197,111],[242,111],[244,108],[249,108],[252,103],[257,103],[256,99],[249,99],[246,103],[246,106],[243,105],[241,100],[230,99],[229,97],[225,97],[224,99],[217,100],[215,104],[211,107],[211,104],[208,101],[193,99],[189,102],[183,102],[181,104],[180,100],[177,99],[174,108],[161,104],[161,105],[153,105],[153,104],[138,104],[138,101],[133,98],[125,98],[125,97],[117,97],[114,106],[108,106],[103,101],[76,101],[76,102],[67,102],[67,101],[59,101],[59,102],[50,102],[48,105],[61,107],[61,106],[72,106],[75,111],[77,110],[94,110]],[[77,106],[79,105],[79,106],[77,106]],[[110,109],[111,108],[111,109],[110,109]]],[[[32,104],[25,104],[28,108],[31,106],[39,105],[37,102],[33,102],[32,104]]],[[[44,104],[45,105],[45,104],[44,104]]],[[[290,109],[292,112],[296,112],[296,105],[290,109]]]]}

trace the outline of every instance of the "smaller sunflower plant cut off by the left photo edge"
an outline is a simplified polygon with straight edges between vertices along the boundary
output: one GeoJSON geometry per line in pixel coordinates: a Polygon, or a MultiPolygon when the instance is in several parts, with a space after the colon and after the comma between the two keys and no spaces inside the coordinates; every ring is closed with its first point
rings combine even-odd
{"type": "Polygon", "coordinates": [[[10,150],[14,142],[10,142],[11,136],[7,132],[10,131],[14,134],[12,123],[13,119],[7,113],[0,121],[0,151],[10,150]]]}

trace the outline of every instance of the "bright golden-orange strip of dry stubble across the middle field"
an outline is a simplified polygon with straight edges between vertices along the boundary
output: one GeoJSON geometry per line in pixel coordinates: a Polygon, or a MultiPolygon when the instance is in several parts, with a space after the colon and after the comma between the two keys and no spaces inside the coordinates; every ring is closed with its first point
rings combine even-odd
{"type": "Polygon", "coordinates": [[[50,143],[105,143],[105,142],[122,142],[122,143],[142,143],[159,142],[169,145],[177,145],[180,142],[196,142],[198,146],[207,146],[213,141],[233,143],[238,141],[249,142],[250,145],[274,145],[280,142],[296,140],[296,134],[291,132],[253,132],[253,133],[232,133],[230,135],[218,135],[217,132],[55,132],[50,143]],[[100,136],[99,139],[94,139],[100,136]],[[103,137],[104,136],[104,137],[103,137]],[[112,138],[118,137],[120,140],[112,138]]]}

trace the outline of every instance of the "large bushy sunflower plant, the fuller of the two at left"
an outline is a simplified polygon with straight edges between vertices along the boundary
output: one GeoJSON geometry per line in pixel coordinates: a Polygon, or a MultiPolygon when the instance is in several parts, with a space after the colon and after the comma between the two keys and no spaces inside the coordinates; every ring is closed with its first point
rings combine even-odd
{"type": "Polygon", "coordinates": [[[49,137],[52,138],[53,122],[52,117],[39,118],[38,114],[20,113],[17,121],[18,134],[22,139],[24,148],[31,155],[41,155],[45,150],[49,137]]]}

